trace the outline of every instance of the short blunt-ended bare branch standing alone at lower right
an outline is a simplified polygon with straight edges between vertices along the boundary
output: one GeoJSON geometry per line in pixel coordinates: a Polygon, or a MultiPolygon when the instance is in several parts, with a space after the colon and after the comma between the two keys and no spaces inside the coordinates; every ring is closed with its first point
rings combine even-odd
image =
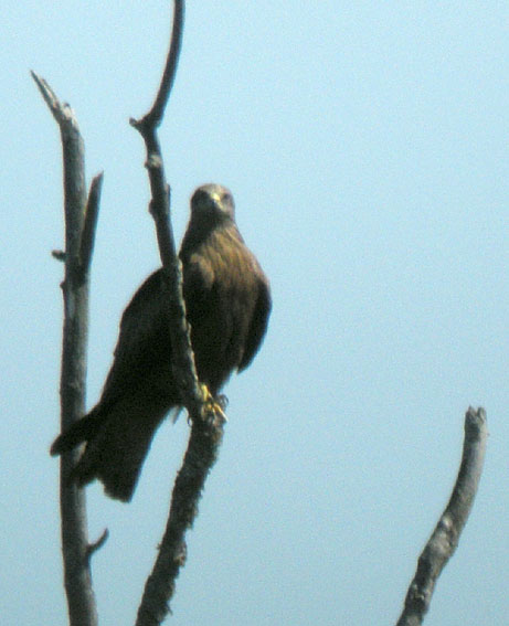
{"type": "Polygon", "coordinates": [[[462,465],[450,500],[417,563],[417,571],[396,626],[420,626],[430,608],[436,581],[457,548],[477,494],[487,439],[486,412],[471,406],[465,415],[462,465]]]}

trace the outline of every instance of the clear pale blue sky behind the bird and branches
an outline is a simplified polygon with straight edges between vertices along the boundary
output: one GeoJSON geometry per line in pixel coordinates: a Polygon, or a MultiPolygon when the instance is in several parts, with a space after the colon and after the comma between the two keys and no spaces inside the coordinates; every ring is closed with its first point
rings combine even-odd
{"type": "MultiPolygon", "coordinates": [[[[273,286],[229,423],[174,626],[394,624],[447,502],[468,405],[485,473],[427,626],[509,613],[507,2],[189,2],[160,130],[180,240],[189,197],[230,187],[273,286]]],[[[105,171],[87,406],[120,314],[158,266],[130,116],[149,107],[170,2],[7,0],[0,35],[0,614],[66,624],[57,461],[63,245],[57,127],[73,106],[105,171]]],[[[100,624],[132,624],[189,427],[160,428],[129,506],[88,487],[100,624]]]]}

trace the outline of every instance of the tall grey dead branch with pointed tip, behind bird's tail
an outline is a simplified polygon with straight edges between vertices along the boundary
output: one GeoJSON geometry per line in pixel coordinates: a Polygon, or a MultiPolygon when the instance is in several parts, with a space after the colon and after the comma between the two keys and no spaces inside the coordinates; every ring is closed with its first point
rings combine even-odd
{"type": "MultiPolygon", "coordinates": [[[[64,328],[61,371],[61,428],[67,429],[85,410],[86,344],[88,335],[88,266],[92,258],[98,190],[95,181],[89,212],[86,212],[84,144],[74,113],[61,104],[47,83],[32,72],[45,103],[57,121],[62,138],[64,167],[65,261],[62,283],[64,328]],[[83,237],[84,224],[87,235],[83,237]],[[82,263],[85,258],[85,265],[82,263]]],[[[71,626],[97,626],[97,609],[92,587],[85,491],[70,485],[67,476],[79,450],[62,455],[60,506],[64,582],[71,626]]]]}

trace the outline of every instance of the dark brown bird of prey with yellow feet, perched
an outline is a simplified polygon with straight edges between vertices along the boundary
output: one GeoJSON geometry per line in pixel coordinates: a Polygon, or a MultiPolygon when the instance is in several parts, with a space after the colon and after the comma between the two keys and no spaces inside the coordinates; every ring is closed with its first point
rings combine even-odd
{"type": "MultiPolygon", "coordinates": [[[[268,279],[237,230],[227,189],[197,189],[179,256],[198,378],[216,396],[234,370],[252,362],[272,306],[268,279]]],[[[86,443],[71,478],[78,485],[98,478],[108,496],[126,502],[156,429],[182,404],[171,365],[166,297],[160,268],[123,314],[99,402],[51,447],[57,455],[86,443]]]]}

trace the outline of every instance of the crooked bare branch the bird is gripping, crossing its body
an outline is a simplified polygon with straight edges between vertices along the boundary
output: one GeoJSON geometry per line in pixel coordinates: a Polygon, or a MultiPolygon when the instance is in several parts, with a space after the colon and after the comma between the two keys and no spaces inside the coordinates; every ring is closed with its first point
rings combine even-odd
{"type": "MultiPolygon", "coordinates": [[[[185,532],[198,513],[198,502],[206,476],[218,458],[223,436],[224,413],[208,402],[199,384],[191,348],[190,328],[182,296],[182,273],[170,223],[170,189],[166,182],[162,155],[157,137],[165,107],[177,72],[182,41],[184,2],[174,0],[173,28],[167,63],[156,100],[150,112],[130,124],[141,134],[147,150],[146,167],[150,180],[150,213],[156,223],[159,252],[165,268],[170,315],[171,360],[176,379],[181,381],[182,403],[192,424],[188,450],[171,499],[166,532],[152,572],[147,580],[136,626],[160,624],[170,611],[174,581],[185,562],[185,532]]],[[[170,358],[170,354],[168,356],[170,358]]]]}

